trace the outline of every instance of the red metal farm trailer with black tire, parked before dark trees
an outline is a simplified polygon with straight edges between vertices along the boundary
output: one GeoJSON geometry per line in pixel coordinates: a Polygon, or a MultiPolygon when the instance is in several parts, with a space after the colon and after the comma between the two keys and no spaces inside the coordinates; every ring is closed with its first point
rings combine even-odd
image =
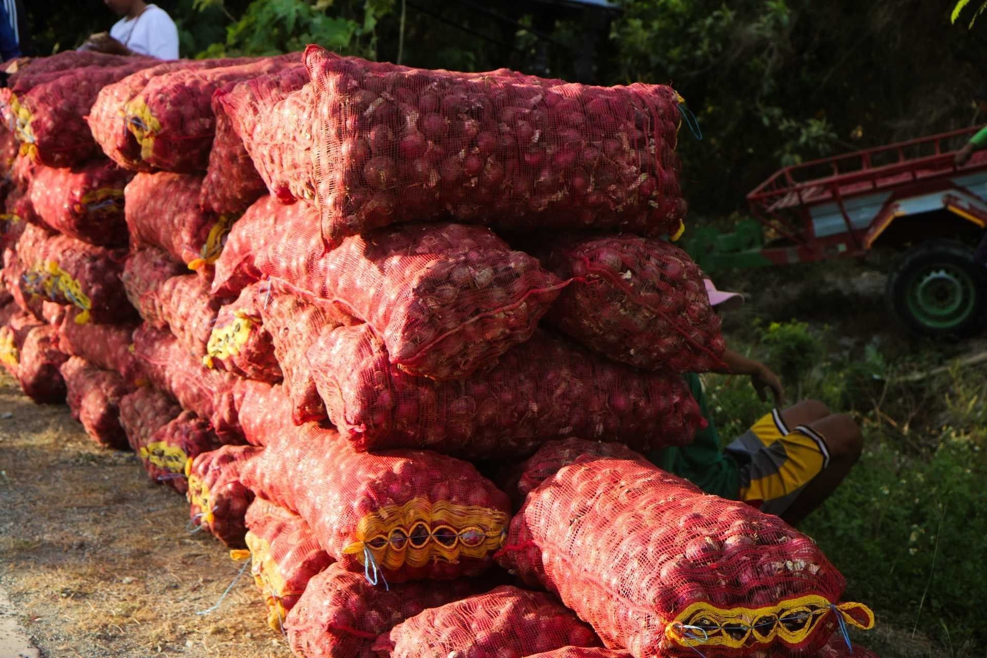
{"type": "Polygon", "coordinates": [[[892,313],[916,333],[968,335],[987,320],[987,268],[973,258],[987,227],[987,152],[960,167],[953,155],[975,130],[779,170],[747,195],[760,224],[698,231],[687,249],[708,271],[903,251],[888,277],[892,313]]]}

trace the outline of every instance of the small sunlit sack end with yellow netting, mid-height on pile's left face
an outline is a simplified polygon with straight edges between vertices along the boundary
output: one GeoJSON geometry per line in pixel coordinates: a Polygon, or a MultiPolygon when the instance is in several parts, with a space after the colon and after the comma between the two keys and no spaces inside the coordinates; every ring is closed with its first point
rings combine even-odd
{"type": "MultiPolygon", "coordinates": [[[[280,381],[270,332],[264,326],[261,310],[268,300],[269,284],[255,283],[244,288],[240,297],[221,307],[206,348],[203,363],[247,379],[280,381]]],[[[208,291],[205,292],[208,295],[208,291]]]]}

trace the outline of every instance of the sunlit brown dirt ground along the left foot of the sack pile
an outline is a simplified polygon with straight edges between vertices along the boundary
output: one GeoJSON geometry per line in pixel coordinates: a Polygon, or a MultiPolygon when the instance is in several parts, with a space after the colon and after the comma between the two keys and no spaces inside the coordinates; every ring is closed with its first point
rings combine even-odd
{"type": "Polygon", "coordinates": [[[133,454],[0,375],[0,589],[43,658],[290,656],[249,573],[196,614],[242,562],[188,521],[185,498],[133,454]]]}

